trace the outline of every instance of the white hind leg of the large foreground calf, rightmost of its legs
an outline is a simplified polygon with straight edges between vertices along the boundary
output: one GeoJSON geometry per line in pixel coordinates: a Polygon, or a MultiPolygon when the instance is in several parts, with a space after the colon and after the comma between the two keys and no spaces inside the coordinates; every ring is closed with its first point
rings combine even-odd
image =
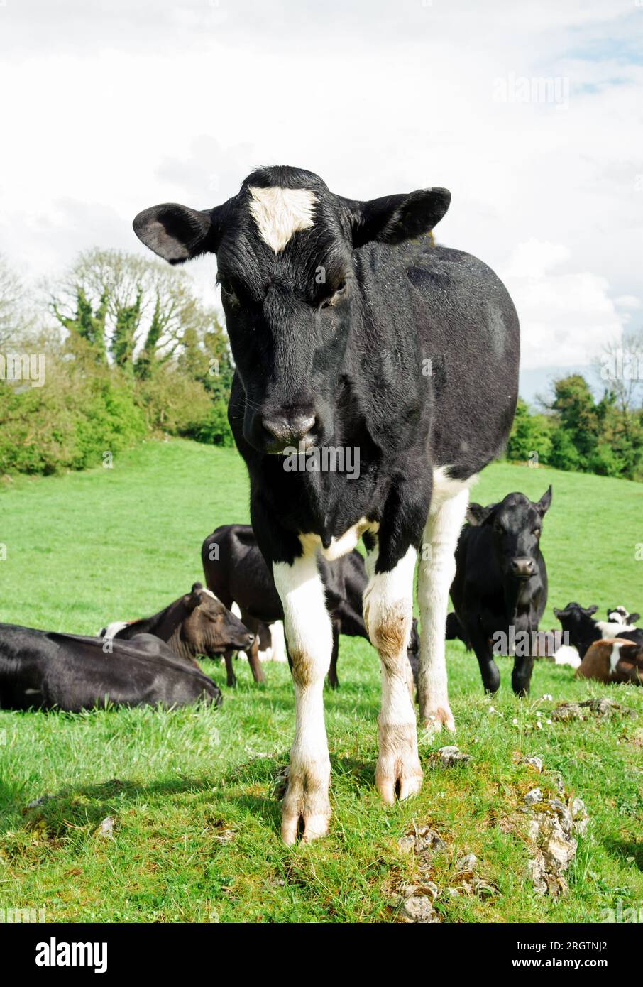
{"type": "Polygon", "coordinates": [[[424,529],[417,586],[422,625],[417,691],[420,720],[430,733],[443,726],[456,728],[449,706],[445,633],[449,590],[456,574],[456,546],[467,502],[467,489],[448,499],[438,498],[424,529]]]}

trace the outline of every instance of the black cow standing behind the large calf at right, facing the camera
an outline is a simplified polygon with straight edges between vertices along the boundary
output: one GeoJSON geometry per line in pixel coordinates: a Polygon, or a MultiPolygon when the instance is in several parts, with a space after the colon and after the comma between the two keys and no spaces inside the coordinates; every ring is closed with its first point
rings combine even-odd
{"type": "MultiPolygon", "coordinates": [[[[538,543],[550,503],[551,487],[536,503],[524,493],[508,493],[486,507],[469,504],[456,551],[456,613],[447,618],[447,638],[462,638],[473,648],[486,692],[500,685],[492,645],[498,632],[506,641],[520,632],[531,637],[546,606],[547,570],[538,543]]],[[[534,655],[522,648],[519,654],[517,647],[511,677],[517,695],[529,693],[533,667],[534,655]]]]}

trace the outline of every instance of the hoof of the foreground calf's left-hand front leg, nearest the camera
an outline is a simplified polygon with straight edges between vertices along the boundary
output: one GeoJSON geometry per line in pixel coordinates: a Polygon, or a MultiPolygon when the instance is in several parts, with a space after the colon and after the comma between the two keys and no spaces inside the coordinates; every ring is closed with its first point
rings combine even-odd
{"type": "Polygon", "coordinates": [[[287,846],[297,842],[312,843],[328,832],[330,802],[328,783],[330,768],[296,771],[290,765],[288,789],[281,810],[281,838],[287,846]]]}

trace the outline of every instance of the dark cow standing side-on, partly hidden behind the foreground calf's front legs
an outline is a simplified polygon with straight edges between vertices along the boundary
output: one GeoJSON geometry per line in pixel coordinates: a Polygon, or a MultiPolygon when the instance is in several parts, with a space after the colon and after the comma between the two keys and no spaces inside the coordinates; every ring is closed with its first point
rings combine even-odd
{"type": "MultiPolygon", "coordinates": [[[[265,625],[283,620],[283,607],[272,572],[259,552],[250,524],[222,524],[203,542],[201,561],[205,581],[222,603],[236,603],[244,624],[254,631],[255,645],[269,642],[265,625]]],[[[326,607],[332,621],[332,654],[328,682],[333,689],[337,679],[339,635],[369,640],[362,615],[362,596],[368,582],[364,560],[357,551],[328,563],[318,556],[318,569],[325,589],[326,607]]],[[[253,645],[254,646],[254,645],[253,645]]],[[[419,638],[417,621],[413,621],[408,660],[417,681],[419,638]]],[[[232,652],[226,657],[228,684],[236,681],[232,670],[232,652]]]]}

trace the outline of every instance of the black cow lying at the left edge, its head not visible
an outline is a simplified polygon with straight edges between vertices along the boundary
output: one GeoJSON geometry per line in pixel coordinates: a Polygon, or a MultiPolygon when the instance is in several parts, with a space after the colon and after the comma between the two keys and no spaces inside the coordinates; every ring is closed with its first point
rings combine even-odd
{"type": "Polygon", "coordinates": [[[0,708],[221,705],[217,685],[150,636],[106,641],[0,624],[0,708]]]}

